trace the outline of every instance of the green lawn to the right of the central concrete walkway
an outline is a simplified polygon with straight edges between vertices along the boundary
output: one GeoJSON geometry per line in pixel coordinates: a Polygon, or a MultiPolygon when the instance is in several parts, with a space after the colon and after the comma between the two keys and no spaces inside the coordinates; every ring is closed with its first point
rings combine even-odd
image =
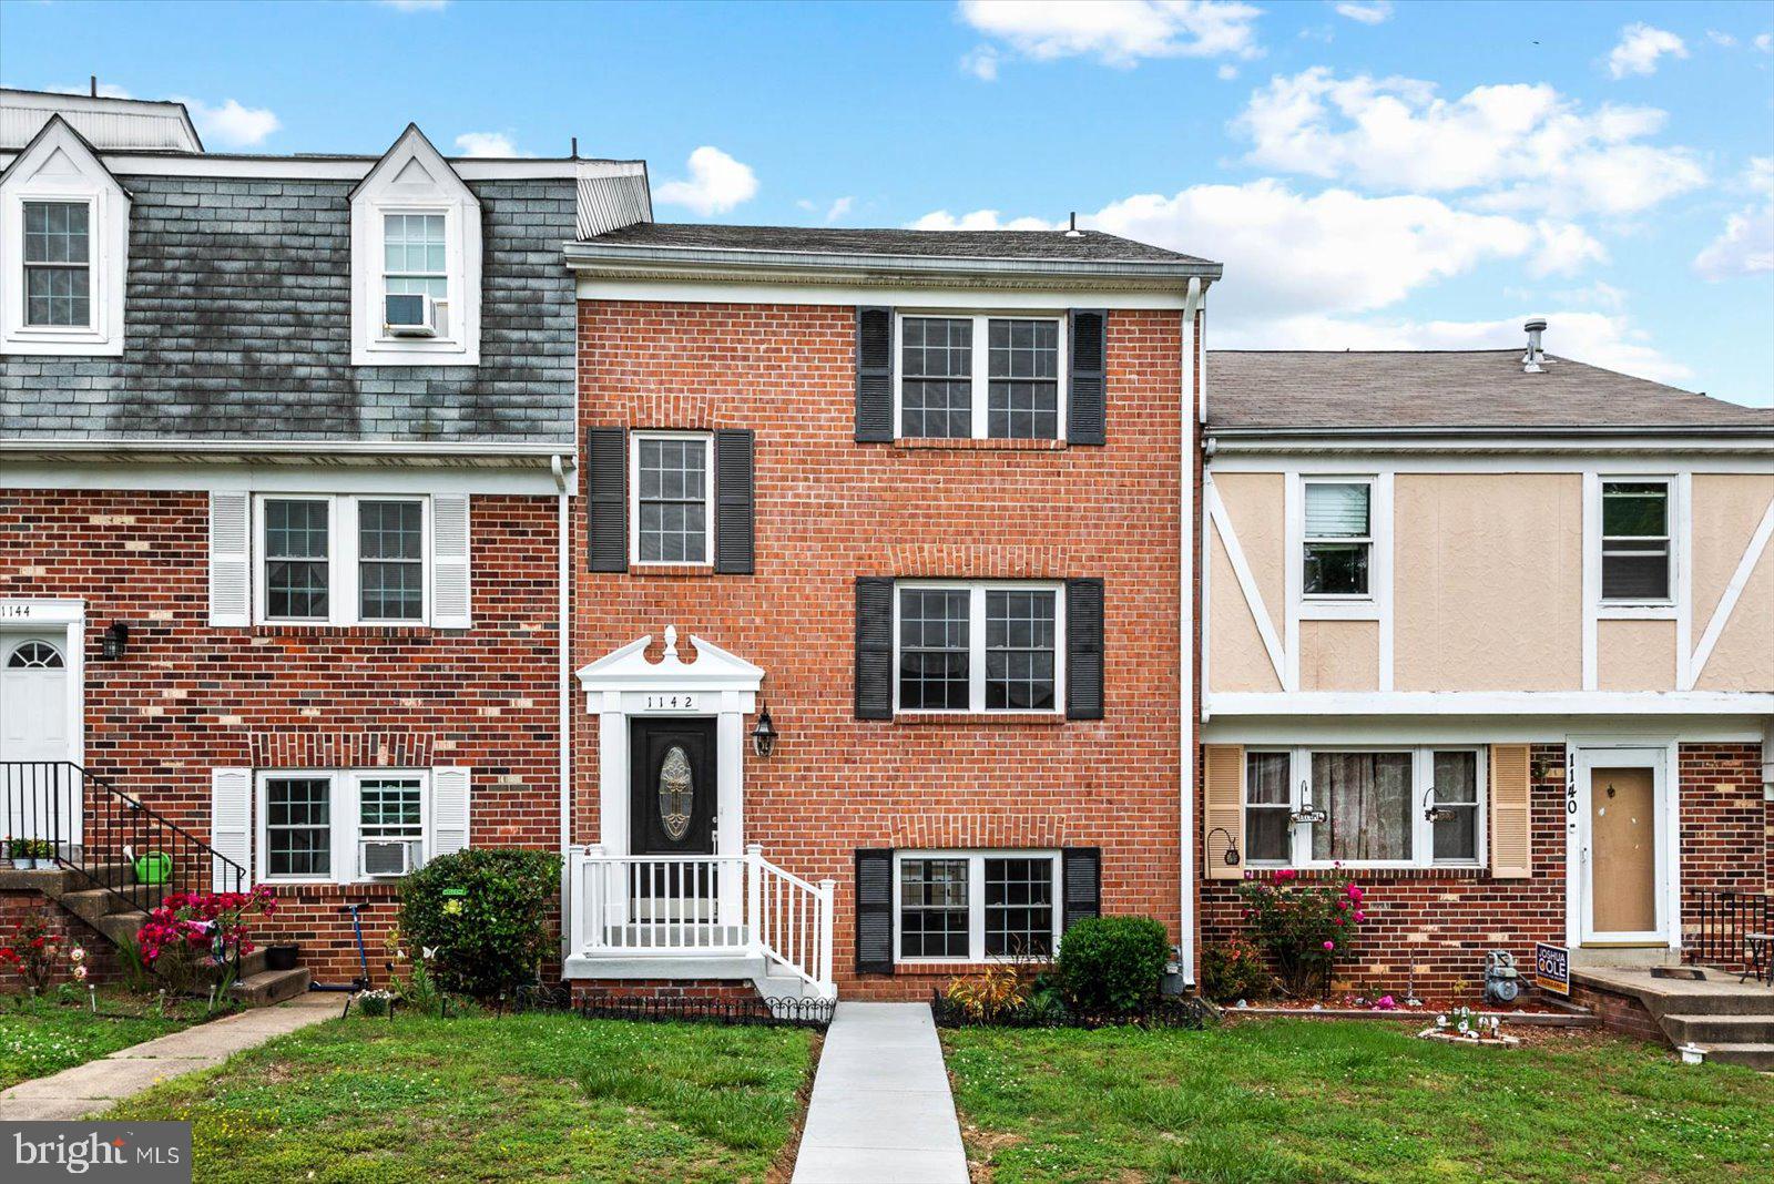
{"type": "Polygon", "coordinates": [[[1474,1049],[1291,1019],[942,1039],[969,1159],[997,1184],[1774,1179],[1774,1078],[1609,1035],[1474,1049]]]}

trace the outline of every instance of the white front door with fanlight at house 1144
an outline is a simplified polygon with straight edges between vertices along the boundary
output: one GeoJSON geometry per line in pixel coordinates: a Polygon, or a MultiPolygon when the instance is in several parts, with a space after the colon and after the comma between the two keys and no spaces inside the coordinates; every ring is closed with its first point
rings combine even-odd
{"type": "Polygon", "coordinates": [[[80,842],[67,760],[67,635],[0,633],[0,830],[80,842]]]}

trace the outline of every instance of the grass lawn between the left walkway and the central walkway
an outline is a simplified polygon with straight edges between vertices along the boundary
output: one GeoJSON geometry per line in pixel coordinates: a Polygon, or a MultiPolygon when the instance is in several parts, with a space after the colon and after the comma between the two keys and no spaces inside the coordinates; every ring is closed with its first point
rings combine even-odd
{"type": "Polygon", "coordinates": [[[763,1180],[812,1079],[800,1030],[529,1014],[335,1019],[154,1087],[195,1175],[241,1180],[763,1180]]]}

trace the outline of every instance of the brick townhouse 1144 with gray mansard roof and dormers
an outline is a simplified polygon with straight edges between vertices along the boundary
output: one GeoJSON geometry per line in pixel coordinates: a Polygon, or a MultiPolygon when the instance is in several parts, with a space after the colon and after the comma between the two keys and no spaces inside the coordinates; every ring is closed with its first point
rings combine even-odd
{"type": "Polygon", "coordinates": [[[28,92],[0,165],[4,830],[89,920],[165,851],[275,884],[318,978],[364,904],[380,968],[406,865],[561,842],[559,252],[640,165],[213,154],[179,105],[28,92]]]}

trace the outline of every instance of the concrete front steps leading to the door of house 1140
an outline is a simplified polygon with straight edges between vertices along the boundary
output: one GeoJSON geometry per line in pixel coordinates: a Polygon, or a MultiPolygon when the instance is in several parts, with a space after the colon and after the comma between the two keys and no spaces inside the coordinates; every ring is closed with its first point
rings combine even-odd
{"type": "Polygon", "coordinates": [[[1572,968],[1572,982],[1636,1000],[1675,1046],[1774,1072],[1774,989],[1710,966],[1572,968]]]}

